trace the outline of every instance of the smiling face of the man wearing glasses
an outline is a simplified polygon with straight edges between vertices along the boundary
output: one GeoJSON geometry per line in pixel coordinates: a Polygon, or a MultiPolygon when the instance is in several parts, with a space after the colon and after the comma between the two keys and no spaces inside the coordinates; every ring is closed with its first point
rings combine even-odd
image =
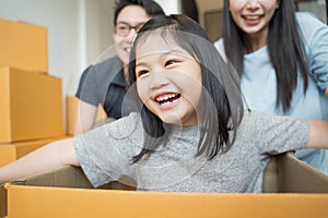
{"type": "Polygon", "coordinates": [[[113,39],[116,55],[125,65],[129,63],[131,43],[137,34],[136,29],[139,31],[150,19],[151,16],[149,16],[147,11],[140,5],[125,7],[118,14],[113,39]]]}

